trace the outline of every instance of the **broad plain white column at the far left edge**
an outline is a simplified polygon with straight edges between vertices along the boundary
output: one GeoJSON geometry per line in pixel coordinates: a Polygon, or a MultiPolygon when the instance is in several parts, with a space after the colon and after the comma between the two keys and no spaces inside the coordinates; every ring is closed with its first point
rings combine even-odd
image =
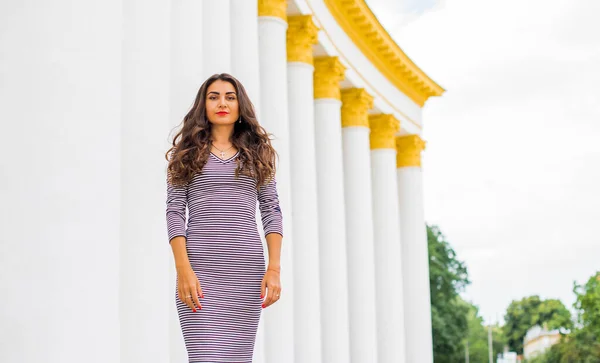
{"type": "Polygon", "coordinates": [[[122,1],[0,23],[0,362],[119,362],[122,1]]]}

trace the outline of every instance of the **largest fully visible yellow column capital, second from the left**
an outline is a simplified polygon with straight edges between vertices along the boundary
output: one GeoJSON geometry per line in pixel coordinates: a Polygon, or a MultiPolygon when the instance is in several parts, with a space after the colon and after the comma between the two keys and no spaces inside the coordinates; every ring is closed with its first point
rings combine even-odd
{"type": "Polygon", "coordinates": [[[319,28],[312,15],[294,15],[288,18],[287,55],[288,62],[313,64],[312,45],[317,44],[319,28]]]}

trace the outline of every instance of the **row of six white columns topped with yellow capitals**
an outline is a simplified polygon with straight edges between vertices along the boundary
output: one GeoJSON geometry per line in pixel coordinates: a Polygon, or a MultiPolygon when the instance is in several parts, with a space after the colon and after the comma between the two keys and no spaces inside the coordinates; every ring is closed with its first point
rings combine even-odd
{"type": "Polygon", "coordinates": [[[287,17],[285,1],[258,9],[261,122],[287,140],[278,151],[290,170],[278,178],[293,215],[283,262],[292,276],[280,311],[264,315],[265,361],[433,361],[424,142],[398,136],[393,115],[371,114],[366,90],[340,89],[340,60],[313,57],[312,16],[287,17]],[[270,333],[282,318],[291,330],[270,333]]]}

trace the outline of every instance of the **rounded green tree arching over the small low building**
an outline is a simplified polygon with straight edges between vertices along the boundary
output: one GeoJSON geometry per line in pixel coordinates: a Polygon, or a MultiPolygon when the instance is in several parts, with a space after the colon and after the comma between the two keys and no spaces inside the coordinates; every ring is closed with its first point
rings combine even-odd
{"type": "Polygon", "coordinates": [[[571,314],[562,302],[554,299],[541,300],[539,296],[529,296],[511,302],[504,321],[508,346],[518,354],[523,354],[523,339],[527,330],[534,325],[548,329],[573,327],[571,314]]]}

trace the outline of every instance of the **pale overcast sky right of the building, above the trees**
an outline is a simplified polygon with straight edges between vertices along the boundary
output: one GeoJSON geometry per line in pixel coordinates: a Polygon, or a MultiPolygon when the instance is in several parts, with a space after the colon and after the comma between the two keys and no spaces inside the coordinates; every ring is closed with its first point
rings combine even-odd
{"type": "Polygon", "coordinates": [[[486,320],[600,270],[600,1],[368,0],[447,92],[424,109],[425,216],[486,320]]]}

